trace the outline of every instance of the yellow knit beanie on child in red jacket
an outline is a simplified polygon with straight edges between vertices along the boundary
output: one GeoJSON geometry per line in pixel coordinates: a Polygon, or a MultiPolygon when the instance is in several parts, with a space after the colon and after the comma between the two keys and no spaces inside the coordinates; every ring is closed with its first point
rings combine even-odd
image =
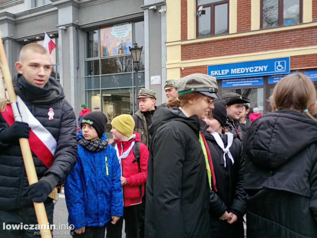
{"type": "Polygon", "coordinates": [[[121,114],[112,120],[111,125],[123,135],[130,137],[132,136],[135,123],[131,115],[121,114]]]}

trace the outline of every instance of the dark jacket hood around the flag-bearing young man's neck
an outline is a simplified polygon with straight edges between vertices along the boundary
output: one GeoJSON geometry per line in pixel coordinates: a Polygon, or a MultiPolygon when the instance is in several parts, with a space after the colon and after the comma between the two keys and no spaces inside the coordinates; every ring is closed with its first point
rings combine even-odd
{"type": "MultiPolygon", "coordinates": [[[[19,76],[20,74],[17,74],[12,79],[14,91],[16,92],[16,95],[19,95],[21,98],[25,99],[26,97],[21,89],[22,86],[18,83],[19,76]]],[[[47,102],[55,102],[65,98],[64,91],[61,88],[61,85],[55,80],[55,78],[49,77],[49,82],[51,84],[50,94],[46,96],[45,98],[39,98],[32,102],[47,103],[47,102]]]]}

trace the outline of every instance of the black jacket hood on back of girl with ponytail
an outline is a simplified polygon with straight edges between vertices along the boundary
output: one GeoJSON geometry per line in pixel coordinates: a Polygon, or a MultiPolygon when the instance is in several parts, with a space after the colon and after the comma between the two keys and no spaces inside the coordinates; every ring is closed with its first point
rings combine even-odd
{"type": "Polygon", "coordinates": [[[244,151],[258,168],[276,169],[317,142],[317,122],[293,110],[279,110],[250,126],[244,151]]]}

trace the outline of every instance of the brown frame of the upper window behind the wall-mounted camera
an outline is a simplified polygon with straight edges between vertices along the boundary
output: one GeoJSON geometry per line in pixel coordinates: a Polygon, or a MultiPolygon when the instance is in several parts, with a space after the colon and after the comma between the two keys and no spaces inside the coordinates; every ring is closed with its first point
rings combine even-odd
{"type": "MultiPolygon", "coordinates": [[[[203,6],[203,8],[210,7],[210,36],[207,36],[207,37],[215,36],[215,6],[221,5],[224,3],[228,4],[228,14],[227,14],[228,33],[227,34],[229,34],[229,14],[230,14],[229,4],[230,4],[230,0],[220,0],[220,1],[215,2],[215,3],[208,3],[208,4],[203,4],[203,5],[198,5],[198,0],[196,0],[196,12],[198,11],[198,8],[200,6],[203,6]]],[[[196,16],[196,38],[198,38],[198,36],[199,36],[198,27],[199,27],[198,16],[196,16]]],[[[223,34],[223,35],[225,35],[225,34],[223,34]]],[[[204,38],[204,37],[202,37],[202,38],[204,38]]]]}

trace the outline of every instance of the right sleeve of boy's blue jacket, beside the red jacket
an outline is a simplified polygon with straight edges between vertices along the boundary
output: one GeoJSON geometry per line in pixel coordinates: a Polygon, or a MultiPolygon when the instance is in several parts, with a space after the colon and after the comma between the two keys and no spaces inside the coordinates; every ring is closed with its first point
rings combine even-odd
{"type": "Polygon", "coordinates": [[[123,201],[122,201],[122,188],[121,188],[121,171],[117,154],[113,148],[112,152],[112,197],[111,197],[111,216],[123,216],[123,201]]]}

